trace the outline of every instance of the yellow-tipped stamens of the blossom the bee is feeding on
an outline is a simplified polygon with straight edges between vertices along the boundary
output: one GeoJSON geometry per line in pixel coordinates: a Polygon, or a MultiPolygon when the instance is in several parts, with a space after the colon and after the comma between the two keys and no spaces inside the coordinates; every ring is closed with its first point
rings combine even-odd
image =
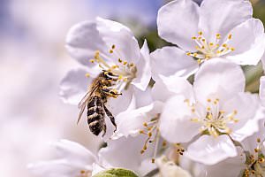
{"type": "Polygon", "coordinates": [[[115,83],[108,89],[121,94],[121,91],[126,89],[129,83],[136,77],[137,68],[133,63],[129,63],[122,59],[115,45],[111,46],[109,52],[111,58],[104,55],[99,50],[95,51],[95,57],[94,59],[90,59],[90,62],[96,62],[99,67],[102,68],[102,71],[115,81],[115,83]],[[113,59],[112,56],[116,59],[113,59]]]}

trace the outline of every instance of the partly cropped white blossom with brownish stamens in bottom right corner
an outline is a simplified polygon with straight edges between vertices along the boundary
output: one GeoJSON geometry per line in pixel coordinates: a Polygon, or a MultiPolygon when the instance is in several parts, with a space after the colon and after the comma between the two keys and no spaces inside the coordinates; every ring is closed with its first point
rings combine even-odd
{"type": "MultiPolygon", "coordinates": [[[[264,108],[259,109],[258,117],[264,119],[264,108]]],[[[265,174],[264,120],[259,124],[259,132],[247,137],[238,147],[238,156],[227,158],[216,165],[201,165],[208,176],[215,177],[256,177],[265,174]],[[243,149],[242,149],[243,148],[243,149]],[[223,170],[225,169],[225,170],[223,170]],[[245,173],[245,175],[243,175],[245,173]],[[241,175],[239,175],[241,174],[241,175]],[[262,174],[262,175],[261,175],[262,174]]],[[[199,175],[204,177],[205,175],[199,175]]]]}

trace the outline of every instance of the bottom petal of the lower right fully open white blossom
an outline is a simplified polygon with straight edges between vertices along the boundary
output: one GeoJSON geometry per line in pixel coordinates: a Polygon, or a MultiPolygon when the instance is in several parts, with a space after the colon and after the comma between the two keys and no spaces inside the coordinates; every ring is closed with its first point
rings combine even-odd
{"type": "Polygon", "coordinates": [[[237,150],[227,135],[202,135],[186,151],[186,156],[205,165],[214,165],[225,158],[237,156],[237,150]]]}

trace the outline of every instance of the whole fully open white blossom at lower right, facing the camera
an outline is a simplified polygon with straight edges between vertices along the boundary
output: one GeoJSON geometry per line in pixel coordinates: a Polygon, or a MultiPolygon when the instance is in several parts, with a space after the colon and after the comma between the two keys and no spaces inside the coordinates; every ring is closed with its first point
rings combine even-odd
{"type": "MultiPolygon", "coordinates": [[[[231,138],[240,142],[254,134],[256,128],[244,127],[254,118],[259,104],[257,96],[244,93],[241,68],[216,58],[201,65],[193,87],[183,83],[185,94],[172,96],[164,104],[160,117],[163,138],[169,142],[192,141],[186,155],[207,165],[235,157],[237,150],[231,138]]],[[[174,90],[173,84],[167,87],[174,90]]]]}

